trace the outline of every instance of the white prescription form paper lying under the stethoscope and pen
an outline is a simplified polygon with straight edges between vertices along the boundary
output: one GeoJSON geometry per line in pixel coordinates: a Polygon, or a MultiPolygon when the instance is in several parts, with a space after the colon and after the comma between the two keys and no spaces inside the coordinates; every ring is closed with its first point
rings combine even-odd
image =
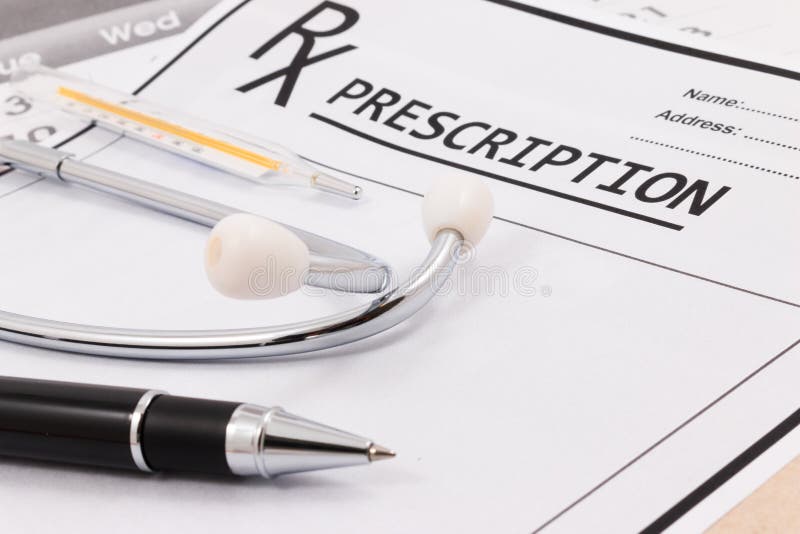
{"type": "MultiPolygon", "coordinates": [[[[191,32],[141,95],[278,139],[364,199],[250,185],[97,129],[63,148],[369,250],[401,275],[427,252],[419,195],[435,177],[485,177],[497,218],[410,321],[307,358],[0,346],[8,374],[280,403],[399,452],[266,483],[9,462],[14,527],[35,511],[89,532],[693,531],[766,478],[752,472],[765,449],[797,441],[800,74],[547,2],[240,0],[191,32]],[[353,12],[293,63],[298,28],[325,33],[353,12]]],[[[32,184],[0,199],[11,311],[226,328],[363,300],[226,300],[204,280],[205,229],[8,178],[32,184]]]]}

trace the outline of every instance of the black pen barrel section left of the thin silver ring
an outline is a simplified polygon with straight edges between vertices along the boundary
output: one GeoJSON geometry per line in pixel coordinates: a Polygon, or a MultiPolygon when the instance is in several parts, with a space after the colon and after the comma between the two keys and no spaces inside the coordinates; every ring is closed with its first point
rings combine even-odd
{"type": "Polygon", "coordinates": [[[0,455],[137,469],[131,414],[146,392],[0,377],[0,455]]]}

